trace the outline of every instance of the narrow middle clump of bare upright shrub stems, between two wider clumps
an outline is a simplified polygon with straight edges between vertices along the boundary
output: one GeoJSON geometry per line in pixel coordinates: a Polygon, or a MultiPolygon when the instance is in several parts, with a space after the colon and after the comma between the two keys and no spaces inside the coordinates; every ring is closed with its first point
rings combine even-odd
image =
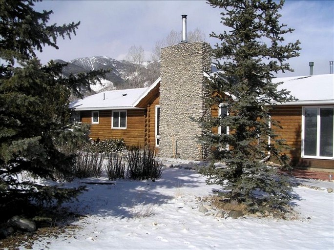
{"type": "Polygon", "coordinates": [[[119,153],[109,155],[105,165],[105,171],[109,180],[125,178],[125,158],[119,153]]]}

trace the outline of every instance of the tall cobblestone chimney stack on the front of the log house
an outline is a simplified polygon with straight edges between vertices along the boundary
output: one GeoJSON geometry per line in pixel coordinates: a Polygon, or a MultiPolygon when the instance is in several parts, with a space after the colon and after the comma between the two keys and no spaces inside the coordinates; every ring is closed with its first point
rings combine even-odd
{"type": "Polygon", "coordinates": [[[204,71],[211,71],[208,43],[179,43],[161,49],[160,156],[203,159],[205,150],[198,142],[203,129],[192,118],[206,113],[204,71]]]}

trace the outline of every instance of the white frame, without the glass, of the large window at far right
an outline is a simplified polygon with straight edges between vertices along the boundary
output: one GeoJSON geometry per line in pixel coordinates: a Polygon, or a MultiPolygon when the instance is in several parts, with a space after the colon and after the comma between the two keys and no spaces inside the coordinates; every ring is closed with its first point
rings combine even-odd
{"type": "MultiPolygon", "coordinates": [[[[320,126],[319,126],[319,124],[320,124],[320,108],[334,108],[334,106],[304,106],[304,107],[302,107],[301,158],[334,160],[334,153],[333,153],[332,156],[319,156],[319,154],[320,154],[320,136],[319,136],[320,135],[320,126]],[[304,155],[305,108],[317,108],[316,156],[314,156],[314,155],[304,155]]],[[[334,130],[334,127],[333,127],[333,130],[334,130]]],[[[334,133],[333,133],[333,140],[334,140],[334,133]]]]}

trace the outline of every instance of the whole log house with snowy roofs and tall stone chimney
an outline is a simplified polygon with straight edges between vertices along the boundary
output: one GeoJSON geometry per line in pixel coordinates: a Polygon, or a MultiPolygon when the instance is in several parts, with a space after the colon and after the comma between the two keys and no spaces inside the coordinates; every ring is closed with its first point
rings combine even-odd
{"type": "MultiPolygon", "coordinates": [[[[185,20],[183,16],[183,20],[185,20]]],[[[149,146],[161,157],[201,160],[208,149],[197,138],[203,132],[191,118],[205,112],[205,79],[211,72],[211,47],[182,42],[161,50],[161,76],[147,88],[113,90],[72,102],[76,119],[88,123],[92,139],[123,138],[128,146],[149,146]]],[[[277,104],[281,138],[292,166],[334,170],[334,74],[277,78],[280,88],[298,101],[277,104]]],[[[221,115],[223,107],[216,110],[221,115]]],[[[218,133],[228,130],[216,129],[218,133]]]]}

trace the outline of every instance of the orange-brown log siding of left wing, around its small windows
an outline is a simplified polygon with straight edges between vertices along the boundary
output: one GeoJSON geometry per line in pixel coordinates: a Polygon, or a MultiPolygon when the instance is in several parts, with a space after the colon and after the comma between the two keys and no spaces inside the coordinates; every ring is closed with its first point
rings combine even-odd
{"type": "Polygon", "coordinates": [[[90,125],[90,137],[94,140],[123,138],[127,146],[145,145],[145,109],[127,110],[126,129],[111,128],[112,110],[99,110],[99,124],[91,124],[91,111],[81,111],[81,120],[90,125]]]}

